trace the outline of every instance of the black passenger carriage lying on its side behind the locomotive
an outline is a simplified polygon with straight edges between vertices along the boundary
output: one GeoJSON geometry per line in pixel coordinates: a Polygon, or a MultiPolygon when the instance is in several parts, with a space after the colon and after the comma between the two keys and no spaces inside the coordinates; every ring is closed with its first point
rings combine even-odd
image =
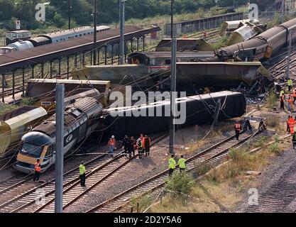
{"type": "MultiPolygon", "coordinates": [[[[240,117],[246,111],[246,99],[239,92],[216,92],[187,96],[176,99],[176,103],[179,110],[181,104],[186,106],[186,109],[181,109],[184,111],[181,112],[183,114],[181,118],[185,114],[185,123],[177,127],[213,121],[218,103],[221,104],[219,120],[240,117]]],[[[141,133],[168,131],[169,118],[170,100],[165,100],[141,106],[108,109],[104,113],[104,118],[102,117],[102,122],[105,127],[108,126],[104,131],[107,138],[115,135],[117,139],[121,139],[124,138],[124,135],[138,136],[141,133]],[[151,116],[149,113],[154,113],[154,115],[151,116]],[[138,116],[140,114],[141,116],[138,116]]]]}

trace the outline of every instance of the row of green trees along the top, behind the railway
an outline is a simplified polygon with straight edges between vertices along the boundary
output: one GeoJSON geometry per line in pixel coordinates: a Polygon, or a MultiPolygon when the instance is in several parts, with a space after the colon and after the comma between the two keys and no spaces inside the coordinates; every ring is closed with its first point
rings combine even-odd
{"type": "MultiPolygon", "coordinates": [[[[72,26],[91,25],[94,0],[70,0],[72,26]]],[[[97,23],[110,24],[119,21],[119,0],[97,0],[97,23]]],[[[192,13],[214,6],[227,7],[247,4],[248,0],[174,0],[174,13],[192,13]]],[[[67,27],[68,0],[0,0],[0,26],[15,28],[20,20],[22,28],[36,29],[55,26],[67,27]],[[45,6],[45,22],[35,21],[36,4],[50,2],[45,6]]],[[[126,19],[146,18],[170,14],[170,0],[128,0],[126,19]]]]}

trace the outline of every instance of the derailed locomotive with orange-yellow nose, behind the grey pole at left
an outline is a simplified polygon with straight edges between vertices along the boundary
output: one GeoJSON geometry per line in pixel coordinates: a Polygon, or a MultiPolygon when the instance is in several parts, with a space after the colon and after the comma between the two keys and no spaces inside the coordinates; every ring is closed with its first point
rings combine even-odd
{"type": "MultiPolygon", "coordinates": [[[[97,118],[102,111],[97,99],[77,99],[65,109],[64,155],[87,138],[99,125],[97,118]]],[[[40,159],[41,172],[55,163],[55,115],[43,121],[22,137],[14,168],[26,174],[34,171],[34,164],[40,159]]]]}

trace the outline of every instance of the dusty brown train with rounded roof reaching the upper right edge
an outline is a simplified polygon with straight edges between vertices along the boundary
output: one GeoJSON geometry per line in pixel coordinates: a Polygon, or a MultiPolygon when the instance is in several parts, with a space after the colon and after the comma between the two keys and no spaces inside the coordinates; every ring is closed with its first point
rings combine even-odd
{"type": "Polygon", "coordinates": [[[280,26],[268,29],[257,35],[251,40],[246,40],[241,43],[230,45],[226,48],[221,48],[217,51],[219,60],[226,61],[227,59],[235,58],[236,53],[240,50],[252,50],[255,60],[263,60],[270,58],[275,52],[287,46],[290,42],[291,35],[292,43],[296,40],[296,18],[282,23],[280,26]]]}

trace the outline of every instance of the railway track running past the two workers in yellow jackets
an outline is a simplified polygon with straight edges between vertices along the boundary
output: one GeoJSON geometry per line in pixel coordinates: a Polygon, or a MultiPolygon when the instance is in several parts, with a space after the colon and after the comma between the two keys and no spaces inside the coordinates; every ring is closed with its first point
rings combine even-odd
{"type": "MultiPolygon", "coordinates": [[[[224,157],[225,155],[227,155],[227,153],[229,153],[230,148],[235,148],[241,143],[253,138],[253,136],[256,135],[257,133],[258,132],[256,132],[255,134],[242,133],[239,141],[236,140],[235,136],[233,135],[229,138],[226,138],[226,140],[223,140],[220,143],[213,145],[211,148],[208,148],[207,150],[203,150],[201,153],[198,153],[197,155],[194,155],[189,159],[187,159],[186,171],[190,172],[194,170],[196,167],[203,165],[205,162],[217,162],[218,160],[221,160],[221,157],[224,157]]],[[[119,211],[122,208],[124,208],[124,206],[128,205],[132,198],[143,196],[148,192],[152,192],[155,189],[163,187],[163,185],[165,184],[165,179],[167,177],[168,177],[168,170],[160,172],[160,174],[155,175],[150,179],[147,179],[146,181],[141,182],[140,184],[137,184],[134,187],[131,187],[130,189],[127,189],[121,194],[118,194],[113,198],[107,201],[104,201],[102,204],[99,204],[98,206],[95,206],[92,209],[89,209],[87,213],[92,213],[92,212],[110,213],[114,211],[119,211]]]]}

